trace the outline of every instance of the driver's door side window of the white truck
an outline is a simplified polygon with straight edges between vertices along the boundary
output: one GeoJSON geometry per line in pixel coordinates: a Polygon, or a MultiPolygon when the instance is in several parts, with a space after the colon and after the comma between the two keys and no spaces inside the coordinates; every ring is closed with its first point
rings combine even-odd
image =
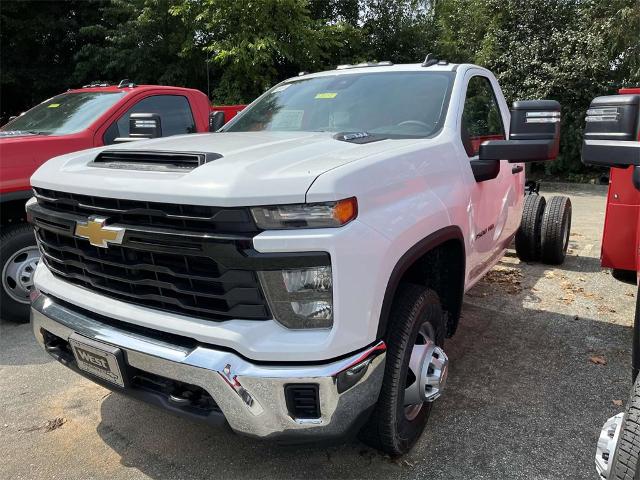
{"type": "Polygon", "coordinates": [[[485,140],[504,140],[504,125],[500,108],[486,77],[471,77],[462,111],[462,143],[467,155],[478,155],[485,140]]]}

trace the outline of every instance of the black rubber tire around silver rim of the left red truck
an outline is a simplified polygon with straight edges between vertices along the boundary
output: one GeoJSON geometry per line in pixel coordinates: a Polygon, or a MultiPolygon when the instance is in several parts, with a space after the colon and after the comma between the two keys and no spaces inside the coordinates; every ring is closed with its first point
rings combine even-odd
{"type": "MultiPolygon", "coordinates": [[[[22,301],[17,301],[16,296],[19,291],[8,290],[15,284],[15,279],[5,277],[12,262],[20,261],[21,257],[16,254],[29,247],[36,247],[36,239],[33,228],[27,224],[12,225],[5,227],[0,235],[0,315],[3,320],[11,320],[19,323],[29,322],[29,297],[20,296],[22,301]],[[12,283],[13,282],[13,283],[12,283]]],[[[28,274],[33,273],[33,267],[28,267],[28,274]]]]}

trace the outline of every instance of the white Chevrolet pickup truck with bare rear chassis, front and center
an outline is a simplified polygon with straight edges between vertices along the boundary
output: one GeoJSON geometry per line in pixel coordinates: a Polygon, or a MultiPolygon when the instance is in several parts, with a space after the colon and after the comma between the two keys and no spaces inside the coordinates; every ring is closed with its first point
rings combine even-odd
{"type": "Polygon", "coordinates": [[[464,292],[514,237],[564,258],[568,199],[525,195],[523,165],[555,158],[559,122],[557,102],[510,114],[491,72],[428,58],[301,74],[217,133],[54,158],[27,204],[35,336],[180,415],[402,454],[464,292]]]}

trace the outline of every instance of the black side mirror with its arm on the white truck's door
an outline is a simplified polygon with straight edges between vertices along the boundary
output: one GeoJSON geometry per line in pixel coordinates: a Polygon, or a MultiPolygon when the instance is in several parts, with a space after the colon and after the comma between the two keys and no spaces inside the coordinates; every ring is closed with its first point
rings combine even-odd
{"type": "Polygon", "coordinates": [[[555,160],[560,149],[560,104],[555,100],[513,103],[509,140],[480,145],[480,160],[511,163],[555,160]]]}

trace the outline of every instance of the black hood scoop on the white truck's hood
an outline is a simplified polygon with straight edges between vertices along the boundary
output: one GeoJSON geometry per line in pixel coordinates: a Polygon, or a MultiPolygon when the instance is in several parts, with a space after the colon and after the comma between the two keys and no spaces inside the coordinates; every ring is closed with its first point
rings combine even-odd
{"type": "Polygon", "coordinates": [[[222,158],[222,155],[212,152],[104,150],[89,163],[89,166],[122,170],[188,172],[219,158],[222,158]]]}

